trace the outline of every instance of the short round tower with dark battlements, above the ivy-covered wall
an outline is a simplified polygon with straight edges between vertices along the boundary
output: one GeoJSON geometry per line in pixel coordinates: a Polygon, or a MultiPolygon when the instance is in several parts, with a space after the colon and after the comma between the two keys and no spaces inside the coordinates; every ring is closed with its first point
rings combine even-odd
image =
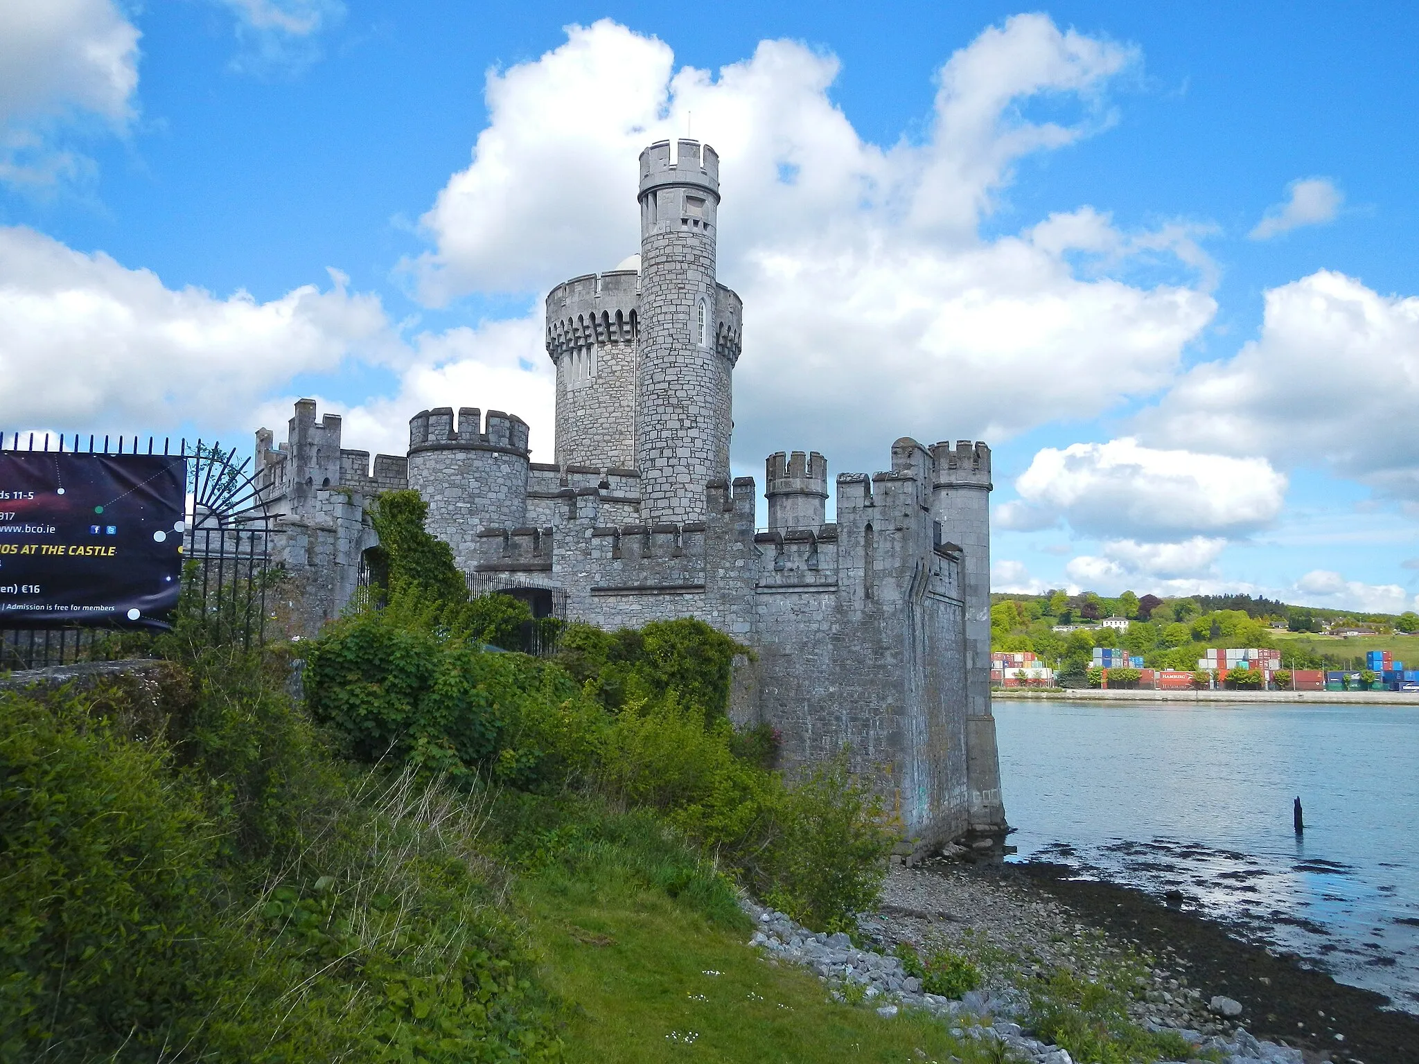
{"type": "Polygon", "coordinates": [[[409,420],[409,487],[429,504],[424,526],[453,548],[458,567],[474,566],[484,528],[519,528],[528,512],[528,423],[477,407],[421,410],[409,420]]]}

